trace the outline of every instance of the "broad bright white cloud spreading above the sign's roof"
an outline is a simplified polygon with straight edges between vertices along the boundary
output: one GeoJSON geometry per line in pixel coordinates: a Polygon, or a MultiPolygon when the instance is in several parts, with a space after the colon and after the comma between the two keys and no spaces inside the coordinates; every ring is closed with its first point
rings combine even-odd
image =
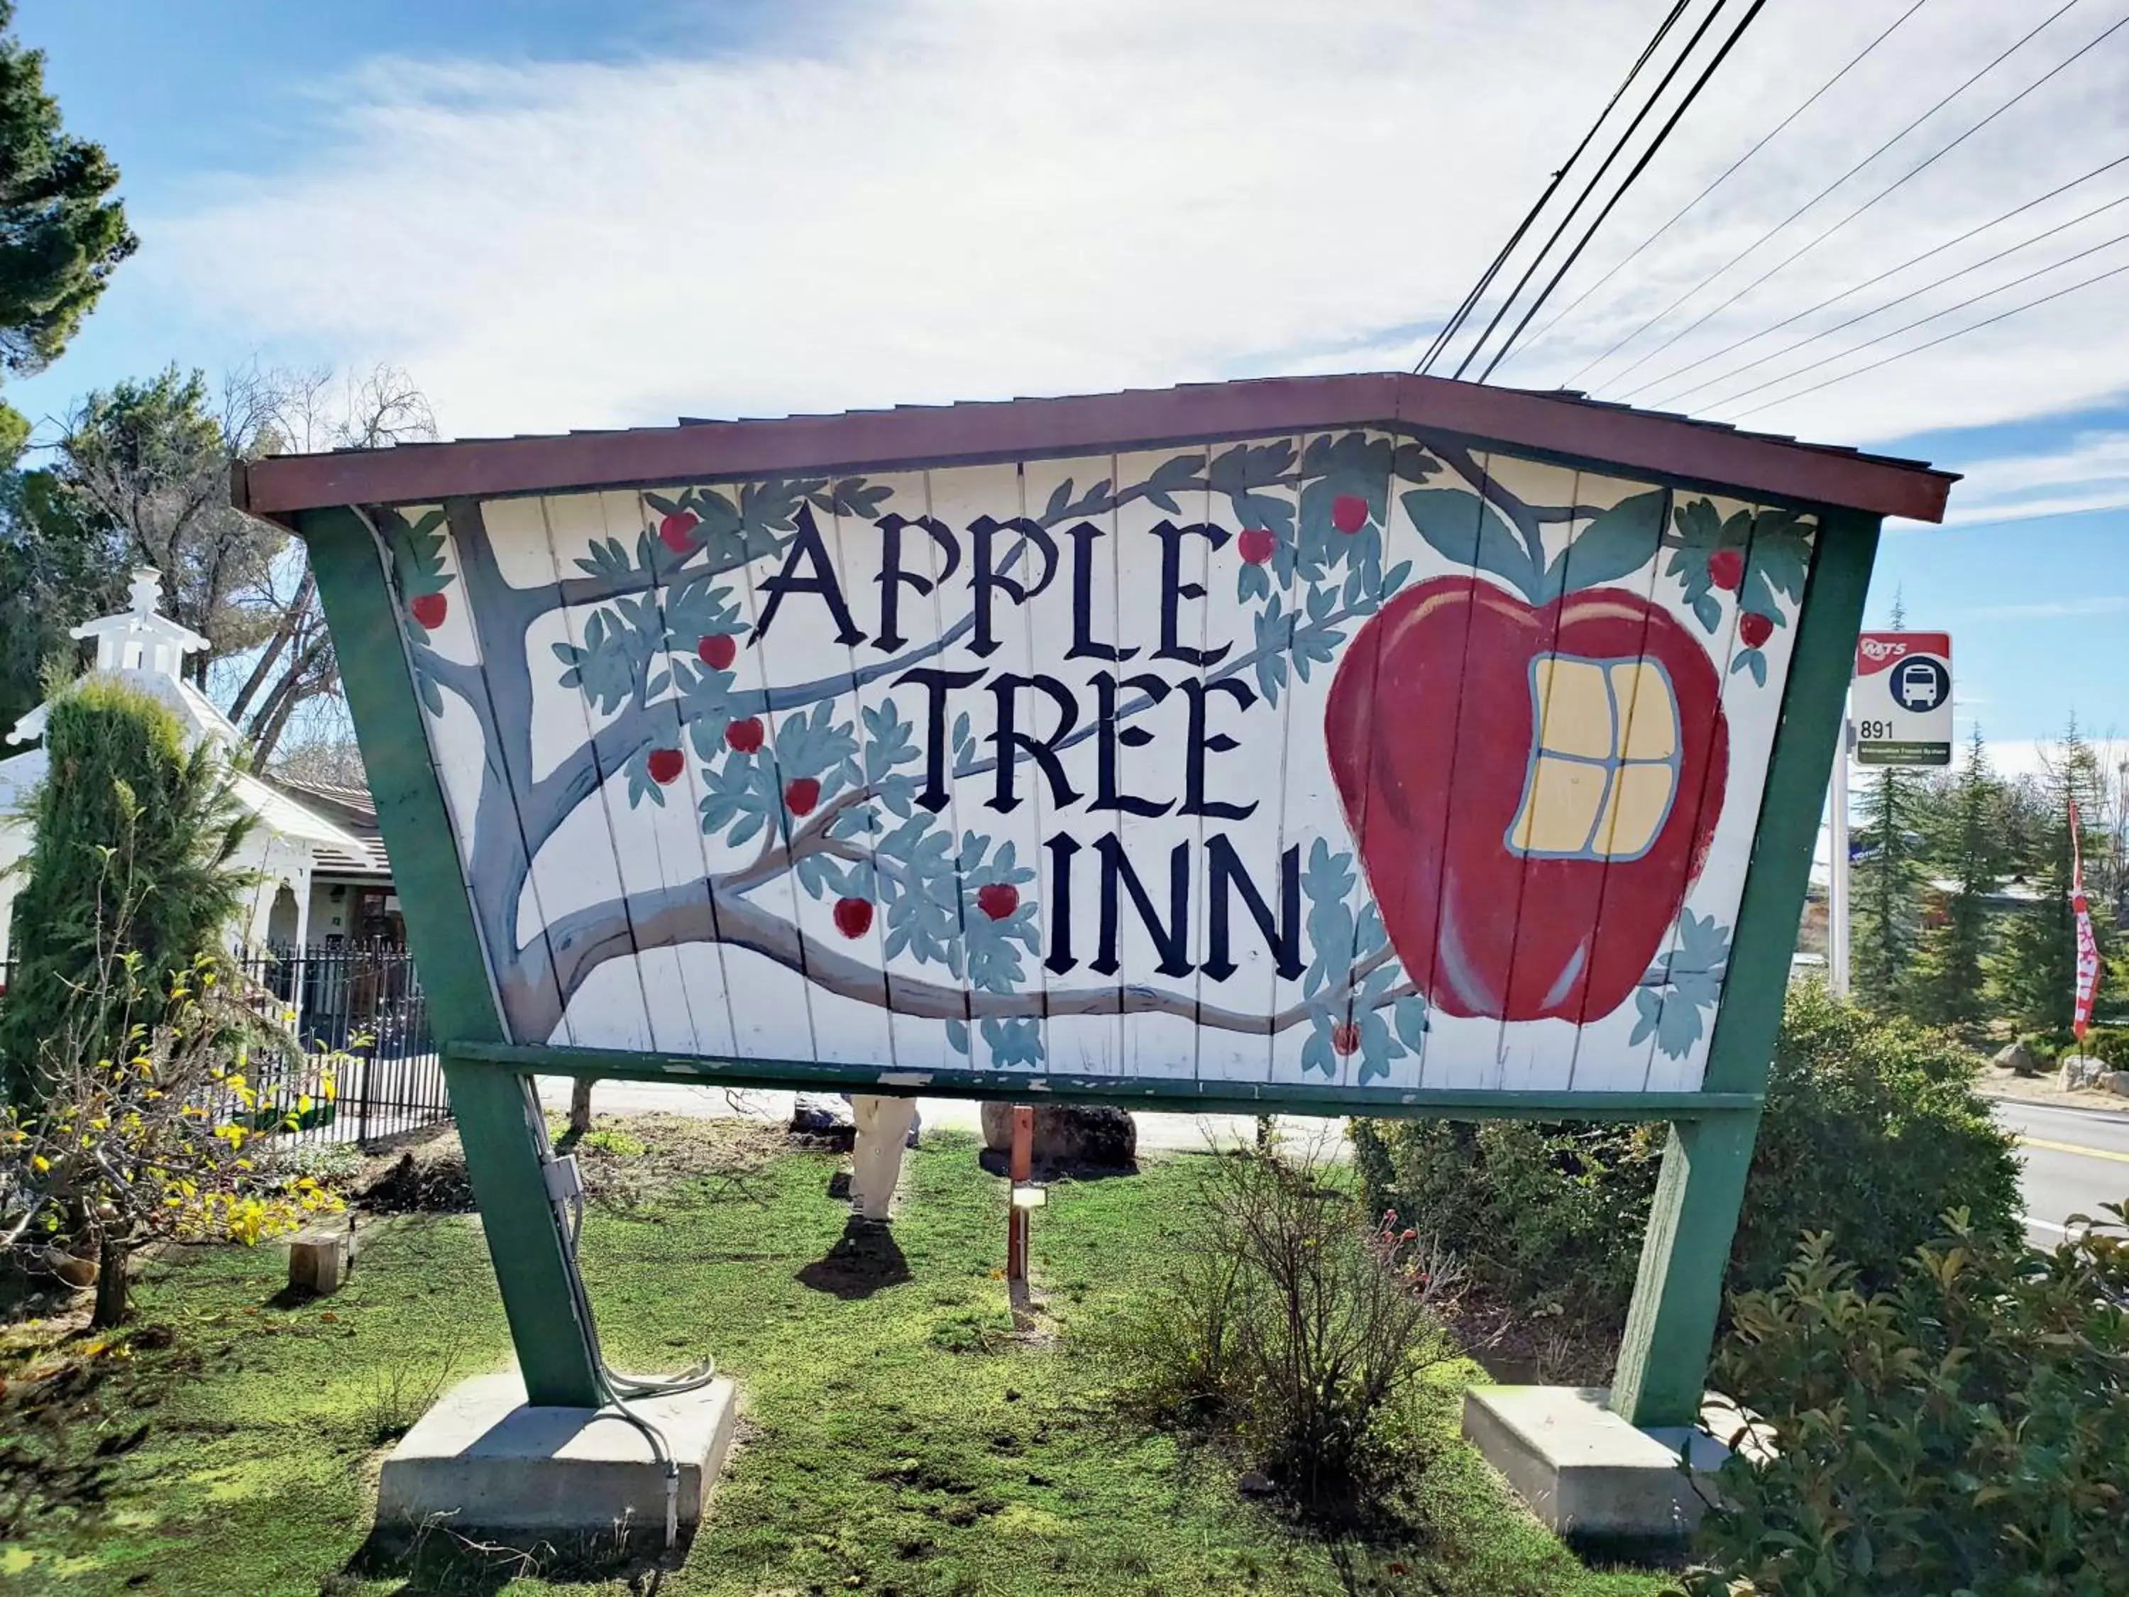
{"type": "MultiPolygon", "coordinates": [[[[1656,15],[1652,0],[901,0],[835,13],[805,51],[373,62],[328,87],[330,147],[145,217],[134,270],[172,313],[268,353],[409,366],[460,434],[1409,364],[1420,341],[1382,330],[1460,296],[1656,15]]],[[[1893,15],[1891,0],[1769,9],[1558,302],[1893,15]]],[[[2065,17],[2001,87],[1940,117],[1946,132],[1931,124],[1837,200],[2101,21],[2065,17]]],[[[1565,379],[2029,26],[1986,0],[1925,9],[1503,375],[1565,379]]],[[[2120,145],[2125,87],[2129,32],[1637,377],[2097,164],[2120,145]]],[[[1814,211],[1782,249],[1839,213],[1814,211]]],[[[2129,317],[2106,315],[2125,296],[2129,277],[1750,424],[1871,441],[2093,402],[2129,368],[2129,317]]]]}

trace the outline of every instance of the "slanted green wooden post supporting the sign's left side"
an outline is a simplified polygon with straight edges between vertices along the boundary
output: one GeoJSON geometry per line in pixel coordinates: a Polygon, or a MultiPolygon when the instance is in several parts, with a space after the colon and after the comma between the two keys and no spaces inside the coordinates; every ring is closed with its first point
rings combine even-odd
{"type": "Polygon", "coordinates": [[[392,882],[407,907],[407,935],[428,992],[526,1401],[598,1407],[592,1337],[577,1318],[562,1226],[547,1201],[543,1126],[528,1077],[453,1054],[458,1043],[500,1043],[505,1035],[392,611],[383,554],[351,509],[309,511],[300,532],[341,658],[377,824],[392,854],[392,882]]]}

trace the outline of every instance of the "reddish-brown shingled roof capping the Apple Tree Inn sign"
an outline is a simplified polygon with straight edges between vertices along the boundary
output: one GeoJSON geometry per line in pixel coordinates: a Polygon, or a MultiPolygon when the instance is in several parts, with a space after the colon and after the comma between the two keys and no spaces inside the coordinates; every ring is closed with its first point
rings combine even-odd
{"type": "Polygon", "coordinates": [[[1456,434],[1601,460],[1669,481],[1920,522],[1944,517],[1946,494],[1957,481],[1954,473],[1916,460],[1739,432],[1573,392],[1367,373],[275,456],[238,462],[232,498],[253,515],[290,520],[330,505],[407,505],[447,494],[884,471],[911,462],[1099,454],[1335,426],[1456,434]]]}

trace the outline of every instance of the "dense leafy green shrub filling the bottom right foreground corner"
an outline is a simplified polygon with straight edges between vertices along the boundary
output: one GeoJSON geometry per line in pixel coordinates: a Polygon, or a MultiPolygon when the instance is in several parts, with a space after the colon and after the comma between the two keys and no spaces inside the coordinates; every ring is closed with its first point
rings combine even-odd
{"type": "Polygon", "coordinates": [[[1867,1293],[1812,1237],[1746,1293],[1716,1359],[1773,1454],[1733,1456],[1701,1525],[1707,1597],[2129,1591],[2125,1212],[2037,1252],[1978,1233],[1867,1293]]]}

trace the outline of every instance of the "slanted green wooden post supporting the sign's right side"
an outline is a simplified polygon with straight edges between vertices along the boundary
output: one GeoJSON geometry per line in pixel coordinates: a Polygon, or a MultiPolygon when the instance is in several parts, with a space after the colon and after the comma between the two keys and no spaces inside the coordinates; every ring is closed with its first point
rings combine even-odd
{"type": "MultiPolygon", "coordinates": [[[[1797,622],[1797,654],[1767,767],[1722,1009],[1707,1050],[1707,1092],[1767,1090],[1876,554],[1876,515],[1825,517],[1797,622]]],[[[1612,1407],[1633,1425],[1699,1420],[1722,1310],[1722,1271],[1756,1135],[1759,1109],[1671,1122],[1612,1378],[1612,1407]]]]}

